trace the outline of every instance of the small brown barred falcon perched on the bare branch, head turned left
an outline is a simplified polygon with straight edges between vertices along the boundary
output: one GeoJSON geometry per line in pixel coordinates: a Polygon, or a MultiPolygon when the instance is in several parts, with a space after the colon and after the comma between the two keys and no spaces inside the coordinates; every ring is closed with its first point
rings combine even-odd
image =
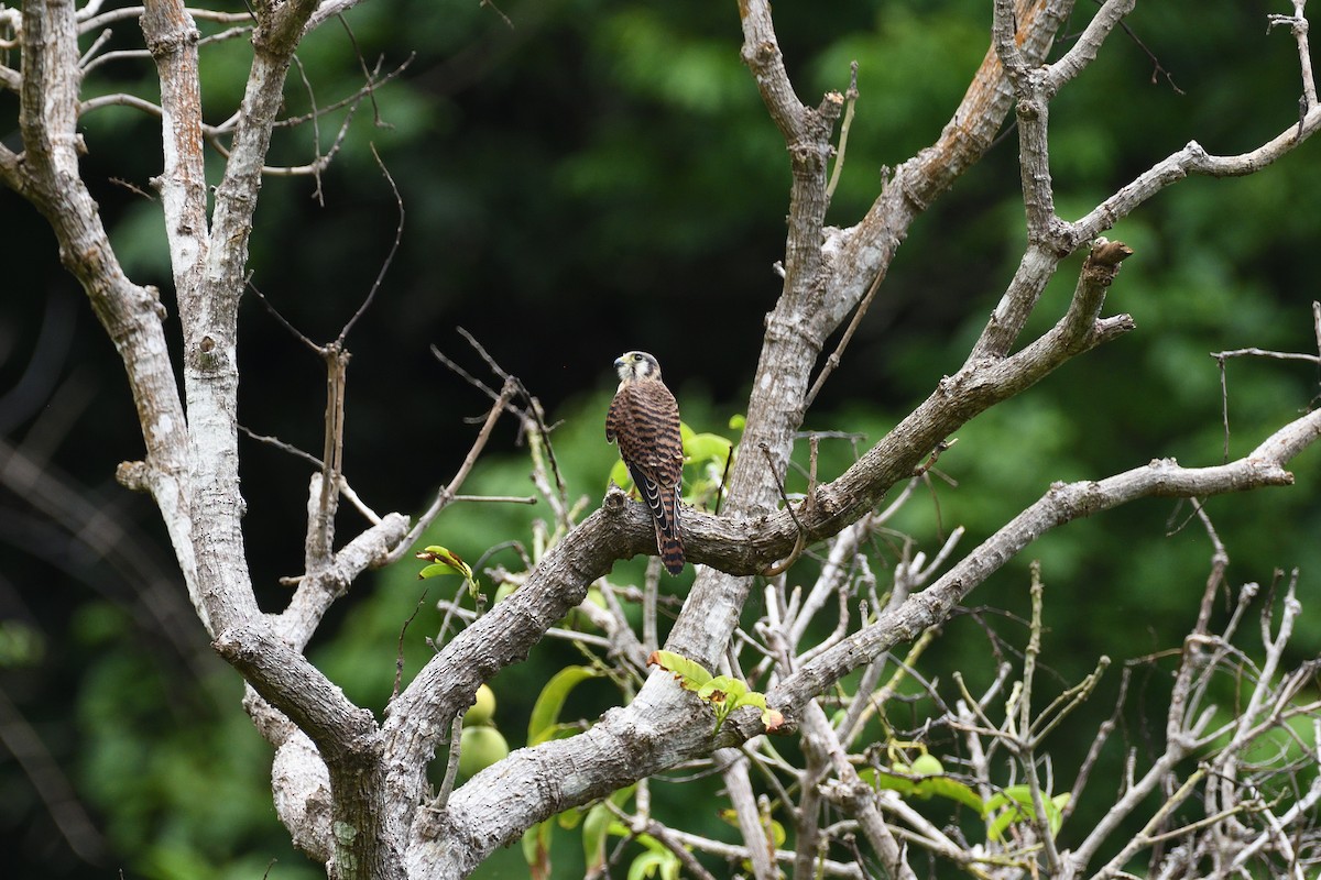
{"type": "Polygon", "coordinates": [[[605,439],[618,441],[642,500],[657,525],[657,550],[670,574],[683,571],[683,532],[679,529],[679,483],[683,479],[683,437],[679,404],[660,381],[660,364],[645,351],[614,359],[620,389],[605,416],[605,439]]]}

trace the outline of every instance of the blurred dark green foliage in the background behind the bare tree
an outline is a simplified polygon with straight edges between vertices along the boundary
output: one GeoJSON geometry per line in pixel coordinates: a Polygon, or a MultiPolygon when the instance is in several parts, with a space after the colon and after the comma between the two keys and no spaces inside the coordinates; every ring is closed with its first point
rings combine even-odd
{"type": "MultiPolygon", "coordinates": [[[[1059,212],[1079,216],[1189,140],[1232,153],[1288,128],[1299,112],[1297,53],[1284,29],[1266,33],[1267,13],[1288,7],[1140,5],[1052,107],[1059,212]]],[[[1092,9],[1079,4],[1055,55],[1092,9]]],[[[989,4],[841,0],[827,12],[790,0],[775,16],[806,103],[843,91],[849,62],[859,62],[856,119],[831,207],[831,222],[849,226],[886,166],[931,142],[948,120],[985,53],[989,4]]],[[[737,4],[503,0],[497,9],[473,0],[370,0],[345,21],[328,22],[299,53],[317,106],[358,91],[362,65],[407,67],[361,103],[320,195],[306,177],[264,183],[251,270],[295,327],[333,339],[371,289],[400,220],[375,149],[398,186],[404,226],[380,290],[347,339],[343,460],[363,500],[382,513],[420,512],[466,454],[477,431],[468,420],[487,401],[429,352],[435,344],[489,377],[457,327],[522,377],[559,424],[571,496],[587,496],[588,509],[617,455],[601,424],[620,352],[654,352],[684,420],[734,435],[729,420],[744,412],[762,319],[779,289],[773,264],[782,257],[789,189],[783,141],[740,62],[737,4]]],[[[140,41],[129,20],[106,49],[140,41]]],[[[248,54],[242,40],[203,46],[209,121],[234,112],[248,54]]],[[[89,78],[85,96],[152,98],[152,74],[147,59],[111,62],[89,78]]],[[[287,113],[310,108],[295,73],[287,113]]],[[[317,144],[328,150],[343,117],[329,113],[318,131],[281,129],[272,164],[308,162],[317,144]]],[[[0,95],[0,137],[11,146],[16,120],[15,96],[0,95]]],[[[147,195],[161,168],[159,124],[128,108],[83,123],[85,177],[112,241],[135,281],[161,288],[177,335],[160,210],[147,195]]],[[[806,429],[859,434],[865,449],[959,367],[1024,244],[1016,149],[1007,129],[918,220],[806,429]]],[[[1317,350],[1318,149],[1306,144],[1244,179],[1184,181],[1120,223],[1111,237],[1136,253],[1107,313],[1131,313],[1137,330],[960,431],[939,460],[943,478],[897,522],[915,546],[931,553],[964,525],[971,549],[1053,480],[1102,478],[1157,456],[1219,463],[1222,377],[1209,354],[1317,350]]],[[[211,161],[214,183],[221,165],[214,153],[211,161]]],[[[238,677],[211,654],[192,615],[149,499],[114,480],[120,460],[143,453],[114,346],[62,270],[44,220],[9,191],[0,191],[0,836],[16,868],[7,876],[321,876],[275,818],[269,747],[239,707],[238,677]]],[[[1079,265],[1081,257],[1066,263],[1029,332],[1063,313],[1079,265]]],[[[252,296],[240,331],[240,421],[320,454],[321,363],[252,296]]],[[[1225,388],[1236,456],[1316,404],[1318,372],[1303,361],[1235,359],[1225,388]]],[[[532,492],[510,422],[487,450],[465,491],[532,492]]],[[[288,598],[277,579],[301,570],[310,471],[246,438],[240,454],[251,574],[264,607],[277,610],[288,598]]],[[[853,455],[847,441],[826,442],[823,476],[853,455]]],[[[1232,561],[1231,583],[1266,587],[1277,570],[1300,570],[1297,661],[1321,653],[1321,453],[1308,451],[1293,471],[1293,488],[1213,499],[1207,511],[1232,561]]],[[[795,475],[789,488],[803,484],[795,475]]],[[[531,520],[547,516],[454,505],[431,540],[477,559],[503,541],[527,542],[531,520]]],[[[1186,504],[1153,500],[1044,537],[970,599],[1011,616],[954,620],[923,672],[947,679],[958,669],[970,686],[984,686],[995,653],[1021,649],[1026,632],[1012,615],[1026,608],[1032,558],[1048,584],[1044,657],[1057,689],[1102,653],[1118,664],[1177,648],[1211,553],[1189,517],[1186,504]]],[[[365,521],[345,511],[338,525],[347,540],[365,521]]],[[[882,586],[901,546],[901,538],[878,541],[871,551],[882,586]]],[[[452,588],[421,584],[416,570],[406,559],[365,577],[310,648],[350,698],[378,712],[403,621],[421,600],[404,640],[412,674],[439,625],[435,602],[452,588]]],[[[641,561],[625,562],[614,577],[629,582],[641,570],[641,561]]],[[[811,575],[807,562],[790,582],[811,575]]],[[[688,579],[666,588],[682,595],[688,579]]],[[[513,745],[522,744],[542,682],[580,660],[572,648],[547,645],[497,677],[497,723],[513,745]]],[[[1156,668],[1143,674],[1125,703],[1123,743],[1106,757],[1116,776],[1102,778],[1118,777],[1123,745],[1141,752],[1162,730],[1168,677],[1156,668]]],[[[1118,679],[1111,674],[1057,734],[1061,778],[1071,780],[1096,723],[1114,711],[1118,679]]],[[[594,718],[618,699],[605,686],[583,687],[571,708],[594,718]]],[[[930,708],[915,702],[911,718],[892,720],[917,727],[930,708]]],[[[933,751],[946,747],[954,751],[952,743],[933,751]]],[[[1089,809],[1112,796],[1108,781],[1095,788],[1098,802],[1079,807],[1078,830],[1095,819],[1089,809]]],[[[664,818],[667,797],[684,798],[687,815],[700,814],[699,829],[734,840],[715,817],[716,785],[701,792],[711,810],[694,811],[691,790],[658,784],[658,814],[664,818]]],[[[1066,826],[1065,846],[1069,836],[1066,826]]],[[[580,876],[581,854],[567,840],[556,843],[556,876],[580,876]]],[[[485,876],[523,876],[517,847],[502,859],[485,876]]]]}

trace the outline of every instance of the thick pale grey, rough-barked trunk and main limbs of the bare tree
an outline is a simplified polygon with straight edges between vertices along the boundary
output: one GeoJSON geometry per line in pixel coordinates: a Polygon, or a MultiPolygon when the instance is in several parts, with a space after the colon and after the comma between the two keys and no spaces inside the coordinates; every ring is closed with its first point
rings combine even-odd
{"type": "MultiPolygon", "coordinates": [[[[478,685],[526,658],[616,561],[655,551],[645,508],[629,504],[621,491],[612,489],[601,509],[551,546],[517,592],[441,645],[392,699],[383,720],[350,702],[304,656],[330,604],[366,569],[406,551],[411,540],[410,517],[371,515],[371,528],[333,549],[330,524],[341,487],[341,475],[334,472],[337,458],[328,455],[324,471],[309,487],[308,571],[284,611],[263,613],[258,607],[242,529],[238,305],[263,166],[293,53],[305,33],[358,1],[254,3],[251,69],[211,207],[196,11],[181,0],[148,0],[143,8],[143,38],[161,83],[162,169],[153,185],[161,197],[180,309],[181,364],[170,360],[157,292],[125,276],[79,177],[82,83],[71,0],[25,3],[21,70],[0,69],[0,86],[18,95],[22,139],[21,153],[0,145],[0,181],[50,223],[63,265],[82,285],[123,359],[145,454],[141,462],[122,464],[120,479],[152,493],[198,617],[217,652],[248,685],[244,707],[275,747],[272,788],[280,821],[293,843],[322,862],[334,880],[462,877],[536,822],[683,761],[717,755],[738,803],[744,852],[758,879],[771,877],[777,854],[754,813],[757,805],[737,751],[765,734],[760,712],[734,712],[717,727],[708,703],[659,670],[629,706],[606,712],[585,732],[518,749],[446,792],[448,797],[429,792],[428,765],[478,685]]],[[[1304,79],[1310,83],[1306,22],[1303,4],[1296,5],[1301,24],[1293,29],[1304,79]]],[[[1211,156],[1189,142],[1081,219],[1066,220],[1055,212],[1050,178],[1050,102],[1085,73],[1133,0],[1107,0],[1070,49],[1046,63],[1073,7],[1071,0],[996,0],[985,58],[939,137],[893,170],[856,224],[831,228],[826,226],[827,181],[845,96],[830,92],[815,106],[801,100],[785,67],[770,4],[740,0],[742,61],[785,140],[791,173],[783,289],[765,319],[744,451],[729,475],[725,509],[719,517],[684,513],[686,553],[699,571],[670,635],[670,650],[711,669],[721,662],[733,665],[727,652],[757,575],[844,529],[849,532],[836,548],[856,553],[881,500],[896,484],[922,472],[968,420],[1024,392],[1073,358],[1133,330],[1128,315],[1103,314],[1107,290],[1122,263],[1132,256],[1125,244],[1099,237],[1120,218],[1189,174],[1225,177],[1262,170],[1321,127],[1321,107],[1314,86],[1309,86],[1310,106],[1297,125],[1256,149],[1211,156]],[[963,365],[942,377],[852,467],[814,484],[804,501],[786,508],[782,482],[827,339],[856,310],[865,310],[868,290],[884,282],[913,223],[987,152],[1011,108],[1016,112],[1026,230],[1015,277],[963,365]],[[1089,256],[1063,314],[1046,332],[1021,340],[1046,284],[1061,261],[1081,248],[1089,248],[1089,256]]],[[[338,348],[333,354],[343,358],[338,364],[342,377],[347,355],[338,348]]],[[[515,384],[506,383],[485,430],[513,398],[515,384]]],[[[795,657],[791,670],[785,660],[787,674],[773,679],[768,699],[785,715],[785,730],[798,728],[808,736],[815,768],[808,784],[815,785],[816,773],[834,767],[843,786],[835,800],[852,813],[886,869],[894,876],[914,876],[888,819],[873,798],[863,797],[868,792],[814,698],[881,652],[945,621],[971,590],[1046,530],[1140,497],[1203,497],[1288,486],[1288,462],[1318,437],[1321,413],[1313,412],[1279,429],[1250,455],[1218,467],[1155,460],[1095,482],[1055,484],[929,586],[897,590],[897,598],[872,623],[848,635],[841,631],[835,643],[811,656],[795,657]]],[[[328,439],[328,450],[332,446],[328,439]]],[[[345,492],[349,496],[347,488],[345,492]]],[[[452,495],[452,487],[444,492],[452,495]]],[[[832,558],[832,565],[840,563],[832,558]]],[[[828,591],[808,603],[820,607],[827,596],[828,591]]],[[[841,617],[847,623],[847,611],[841,617]]],[[[785,633],[787,654],[793,654],[803,631],[789,627],[785,633]]],[[[627,635],[612,644],[645,653],[627,635]]],[[[804,800],[816,809],[824,797],[824,792],[812,790],[804,800]]],[[[815,829],[815,819],[802,827],[815,829]]],[[[814,854],[804,848],[797,862],[810,867],[814,854]]],[[[1082,865],[1074,868],[1081,871],[1082,865]]],[[[840,868],[845,875],[849,871],[852,865],[840,868]]]]}

